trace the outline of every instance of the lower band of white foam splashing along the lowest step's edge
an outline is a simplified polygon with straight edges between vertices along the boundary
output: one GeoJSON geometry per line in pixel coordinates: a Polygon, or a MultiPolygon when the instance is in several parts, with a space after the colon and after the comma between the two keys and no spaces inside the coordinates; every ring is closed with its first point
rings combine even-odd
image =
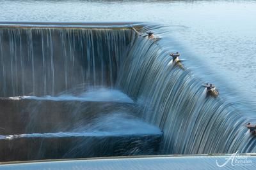
{"type": "Polygon", "coordinates": [[[70,132],[31,133],[0,135],[0,139],[15,138],[63,138],[63,137],[97,137],[97,136],[136,136],[162,134],[154,125],[131,117],[125,113],[113,113],[96,118],[91,124],[77,127],[70,132]]]}

